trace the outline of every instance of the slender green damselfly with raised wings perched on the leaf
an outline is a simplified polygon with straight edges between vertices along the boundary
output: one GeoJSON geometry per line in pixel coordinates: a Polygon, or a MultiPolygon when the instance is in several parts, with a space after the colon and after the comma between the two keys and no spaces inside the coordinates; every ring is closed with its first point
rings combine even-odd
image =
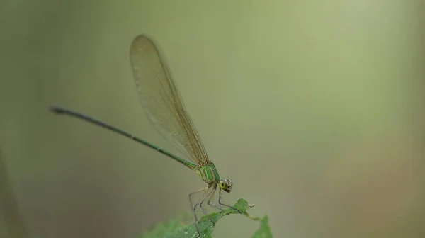
{"type": "MultiPolygon", "coordinates": [[[[201,236],[198,227],[197,209],[208,215],[203,205],[205,202],[222,210],[220,205],[228,208],[233,208],[230,205],[222,203],[222,191],[230,193],[232,191],[233,182],[231,179],[221,179],[215,164],[210,161],[205,150],[203,142],[193,125],[191,117],[183,105],[183,100],[179,94],[179,90],[174,83],[169,68],[164,62],[159,48],[154,43],[154,40],[147,35],[137,35],[130,45],[130,63],[132,74],[135,79],[137,94],[139,96],[140,105],[145,111],[149,123],[159,132],[166,141],[173,144],[176,149],[181,152],[187,159],[183,159],[176,154],[166,151],[157,145],[154,145],[147,140],[136,137],[124,130],[103,123],[101,120],[90,116],[78,113],[76,111],[62,108],[61,106],[50,106],[50,111],[60,115],[69,115],[74,118],[79,118],[88,123],[101,126],[120,135],[135,140],[136,142],[146,145],[158,152],[174,159],[176,162],[183,164],[196,172],[200,178],[207,183],[205,188],[189,193],[189,203],[192,208],[193,218],[198,232],[198,237],[201,236]],[[218,190],[218,203],[212,203],[212,198],[218,190]],[[202,193],[200,198],[193,204],[193,196],[197,193],[202,193]]],[[[237,208],[233,208],[237,210],[237,208]]],[[[239,210],[237,210],[239,213],[239,210]]],[[[210,218],[208,218],[210,220],[210,218]]],[[[212,225],[215,223],[210,220],[212,225]]]]}

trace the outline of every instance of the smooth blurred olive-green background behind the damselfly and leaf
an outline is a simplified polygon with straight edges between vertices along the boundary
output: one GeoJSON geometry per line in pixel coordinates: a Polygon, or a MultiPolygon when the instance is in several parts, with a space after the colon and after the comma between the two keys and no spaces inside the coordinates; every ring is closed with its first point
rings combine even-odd
{"type": "MultiPolygon", "coordinates": [[[[220,175],[275,237],[424,237],[419,1],[1,1],[0,237],[137,237],[198,176],[47,111],[174,151],[148,123],[132,38],[159,43],[220,175]]],[[[249,237],[232,215],[215,237],[249,237]]]]}

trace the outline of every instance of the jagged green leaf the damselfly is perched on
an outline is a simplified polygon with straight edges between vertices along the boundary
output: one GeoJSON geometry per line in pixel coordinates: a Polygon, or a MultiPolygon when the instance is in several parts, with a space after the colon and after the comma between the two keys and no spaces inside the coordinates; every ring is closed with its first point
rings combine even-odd
{"type": "MultiPolygon", "coordinates": [[[[210,238],[212,237],[212,230],[214,225],[212,222],[217,223],[222,217],[230,214],[242,214],[246,217],[249,217],[251,220],[260,221],[260,228],[255,232],[254,238],[258,237],[273,237],[271,234],[270,227],[268,226],[268,216],[265,217],[251,217],[251,215],[246,212],[249,208],[252,208],[254,205],[249,205],[249,203],[244,199],[237,200],[237,203],[233,208],[223,209],[220,212],[211,213],[200,219],[198,222],[198,227],[200,230],[201,237],[210,238]],[[236,208],[237,210],[235,210],[236,208]],[[240,213],[239,213],[239,211],[240,213]]],[[[179,217],[176,217],[168,222],[161,222],[148,232],[142,234],[142,238],[153,238],[153,237],[166,237],[166,238],[187,238],[187,237],[198,237],[198,230],[196,229],[195,224],[185,225],[184,221],[190,220],[193,223],[193,217],[191,215],[185,214],[179,217]]]]}

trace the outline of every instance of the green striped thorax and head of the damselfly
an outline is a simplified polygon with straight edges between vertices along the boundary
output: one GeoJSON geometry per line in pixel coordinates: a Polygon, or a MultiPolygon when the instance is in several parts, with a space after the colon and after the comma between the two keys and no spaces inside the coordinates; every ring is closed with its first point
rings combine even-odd
{"type": "Polygon", "coordinates": [[[215,169],[214,163],[210,163],[208,165],[204,166],[198,166],[196,167],[196,173],[199,174],[199,176],[202,178],[205,183],[208,184],[209,187],[211,186],[220,186],[220,188],[227,193],[230,193],[232,191],[233,182],[230,179],[220,179],[220,175],[217,172],[217,169],[215,169]]]}

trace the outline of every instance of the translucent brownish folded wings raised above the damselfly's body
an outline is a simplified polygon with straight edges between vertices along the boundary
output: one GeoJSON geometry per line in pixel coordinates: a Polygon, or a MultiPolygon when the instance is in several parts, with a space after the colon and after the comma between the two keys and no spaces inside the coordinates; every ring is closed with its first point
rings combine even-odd
{"type": "Polygon", "coordinates": [[[131,43],[130,60],[140,103],[150,123],[189,160],[208,164],[205,147],[153,40],[138,35],[131,43]]]}

